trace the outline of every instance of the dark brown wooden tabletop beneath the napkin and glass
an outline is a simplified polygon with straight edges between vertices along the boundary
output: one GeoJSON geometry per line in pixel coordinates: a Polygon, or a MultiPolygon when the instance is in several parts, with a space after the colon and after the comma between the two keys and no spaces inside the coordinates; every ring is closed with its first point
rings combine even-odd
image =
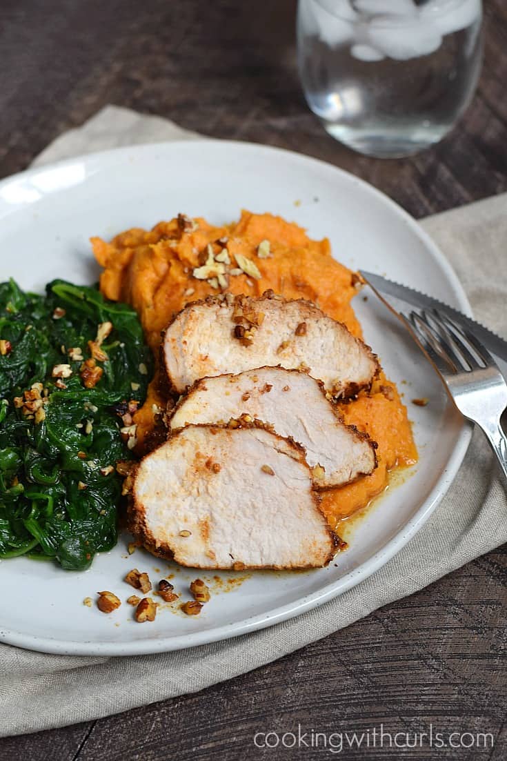
{"type": "MultiPolygon", "coordinates": [[[[432,150],[376,161],[341,148],[305,106],[293,0],[2,0],[0,176],[107,103],[206,135],[279,145],[346,168],[416,217],[507,190],[507,4],[486,0],[474,103],[432,150]]],[[[483,731],[492,750],[343,750],[336,757],[505,759],[505,547],[282,660],[203,693],[0,740],[0,759],[310,758],[256,732],[483,731]]],[[[126,685],[125,689],[129,689],[126,685]]],[[[332,757],[332,756],[331,756],[332,757]]]]}

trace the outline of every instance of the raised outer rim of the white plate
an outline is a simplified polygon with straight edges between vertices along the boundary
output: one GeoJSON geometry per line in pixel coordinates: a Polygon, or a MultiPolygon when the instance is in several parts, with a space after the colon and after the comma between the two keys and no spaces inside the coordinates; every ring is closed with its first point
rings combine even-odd
{"type": "MultiPolygon", "coordinates": [[[[58,170],[71,164],[84,163],[84,164],[100,164],[101,161],[110,161],[115,157],[120,158],[122,155],[131,154],[132,151],[136,153],[142,153],[144,151],[165,151],[168,148],[182,148],[188,149],[189,146],[196,148],[197,150],[206,150],[207,147],[232,149],[232,150],[244,150],[244,151],[261,151],[263,153],[271,153],[275,155],[282,154],[282,156],[289,161],[297,161],[301,164],[317,165],[317,168],[324,168],[325,171],[331,170],[337,172],[346,182],[353,182],[359,186],[362,191],[375,196],[383,205],[384,208],[388,207],[391,212],[401,218],[411,229],[413,234],[422,241],[422,244],[426,247],[432,255],[434,263],[442,269],[445,274],[448,285],[451,286],[454,298],[458,301],[458,305],[461,310],[468,316],[472,316],[470,309],[470,303],[467,299],[467,295],[458,279],[458,275],[454,272],[451,263],[446,259],[442,251],[439,249],[432,237],[418,224],[415,218],[409,214],[402,206],[397,204],[393,199],[383,193],[375,186],[368,183],[366,180],[362,180],[361,177],[357,177],[355,174],[348,172],[341,167],[336,167],[334,164],[330,164],[327,161],[314,158],[308,154],[298,153],[291,151],[287,148],[278,148],[271,145],[263,145],[252,142],[241,142],[234,140],[222,140],[222,139],[183,139],[166,142],[154,142],[143,143],[139,145],[126,145],[117,148],[109,148],[105,151],[95,151],[90,154],[81,154],[72,158],[62,159],[60,161],[52,162],[49,164],[42,164],[41,166],[29,167],[26,170],[13,174],[9,177],[5,177],[0,180],[0,190],[4,189],[12,183],[23,183],[24,180],[30,180],[31,177],[37,174],[48,172],[52,170],[58,170]]],[[[100,167],[99,167],[100,170],[100,167]]],[[[62,192],[61,189],[57,192],[62,192]]],[[[44,195],[50,195],[51,193],[44,193],[44,195]]],[[[5,215],[5,205],[0,198],[0,220],[5,215]]],[[[30,208],[31,204],[26,204],[27,208],[30,208]]],[[[11,209],[13,211],[13,209],[11,209]]],[[[8,213],[8,212],[7,212],[8,213]]],[[[338,580],[332,581],[329,584],[325,584],[320,587],[319,590],[314,591],[311,594],[301,597],[294,603],[286,603],[285,605],[278,606],[267,612],[260,613],[257,616],[251,616],[250,618],[243,619],[241,622],[231,622],[224,626],[215,626],[212,629],[203,629],[198,632],[185,633],[184,635],[171,635],[161,636],[153,639],[141,639],[137,641],[129,642],[94,642],[91,640],[83,639],[81,642],[75,640],[59,640],[54,638],[39,637],[37,635],[27,635],[24,632],[18,632],[14,629],[7,629],[2,626],[0,629],[0,642],[4,642],[8,645],[14,645],[16,647],[24,648],[27,650],[39,651],[49,654],[65,654],[65,655],[104,655],[104,656],[123,656],[123,655],[143,655],[143,654],[155,654],[162,652],[177,651],[186,648],[199,647],[201,645],[208,645],[214,642],[225,641],[230,638],[238,637],[248,634],[250,632],[258,631],[260,629],[266,629],[270,626],[274,626],[276,623],[280,623],[303,613],[312,610],[314,607],[320,606],[334,597],[338,597],[347,590],[359,584],[360,581],[365,581],[371,575],[373,575],[379,568],[385,565],[391,560],[407,543],[412,539],[415,534],[426,523],[439,503],[444,498],[451,483],[454,481],[455,476],[458,473],[461,462],[467,452],[468,445],[472,435],[472,428],[470,425],[462,421],[461,429],[458,432],[458,438],[454,450],[451,453],[451,457],[448,458],[445,463],[442,475],[436,480],[431,492],[429,492],[426,500],[422,501],[419,509],[407,521],[407,524],[400,530],[389,542],[387,542],[375,555],[359,565],[358,568],[346,573],[338,580]]]]}

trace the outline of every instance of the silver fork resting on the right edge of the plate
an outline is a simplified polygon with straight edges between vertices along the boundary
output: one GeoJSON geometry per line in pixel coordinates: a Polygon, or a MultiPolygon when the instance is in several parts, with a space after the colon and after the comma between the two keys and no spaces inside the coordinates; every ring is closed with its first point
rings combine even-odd
{"type": "Polygon", "coordinates": [[[440,310],[402,317],[461,414],[486,434],[507,479],[507,435],[500,422],[507,384],[495,360],[469,330],[440,310]]]}

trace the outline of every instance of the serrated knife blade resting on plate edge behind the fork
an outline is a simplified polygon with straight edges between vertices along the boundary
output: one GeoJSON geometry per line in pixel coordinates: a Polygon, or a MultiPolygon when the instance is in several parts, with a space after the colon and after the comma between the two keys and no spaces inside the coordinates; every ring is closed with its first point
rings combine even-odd
{"type": "Polygon", "coordinates": [[[486,346],[489,352],[507,362],[507,341],[497,336],[492,330],[472,320],[471,317],[467,317],[466,314],[463,314],[458,309],[449,307],[443,301],[438,301],[437,298],[427,296],[420,291],[416,291],[414,288],[409,288],[408,285],[401,285],[392,280],[387,280],[387,278],[375,275],[373,272],[365,272],[365,270],[360,269],[359,273],[370,288],[375,291],[378,298],[384,301],[384,304],[397,316],[407,312],[410,313],[414,308],[442,310],[449,317],[453,317],[454,320],[459,321],[474,333],[474,336],[486,346]]]}

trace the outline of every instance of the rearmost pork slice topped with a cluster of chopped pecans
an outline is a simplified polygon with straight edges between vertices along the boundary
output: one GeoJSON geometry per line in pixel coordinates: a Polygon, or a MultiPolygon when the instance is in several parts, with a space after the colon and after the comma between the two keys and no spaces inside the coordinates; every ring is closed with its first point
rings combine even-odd
{"type": "Polygon", "coordinates": [[[264,365],[307,369],[336,397],[369,387],[378,361],[342,323],[311,301],[230,294],[188,304],[167,327],[162,356],[171,386],[264,365]]]}

